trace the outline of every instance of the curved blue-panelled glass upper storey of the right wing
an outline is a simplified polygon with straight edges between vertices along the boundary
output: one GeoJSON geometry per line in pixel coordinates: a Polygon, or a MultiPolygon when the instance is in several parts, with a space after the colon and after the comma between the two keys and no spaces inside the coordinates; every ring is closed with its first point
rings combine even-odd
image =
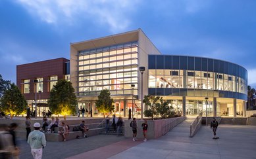
{"type": "Polygon", "coordinates": [[[149,55],[149,94],[247,99],[247,71],[208,58],[149,55]]]}

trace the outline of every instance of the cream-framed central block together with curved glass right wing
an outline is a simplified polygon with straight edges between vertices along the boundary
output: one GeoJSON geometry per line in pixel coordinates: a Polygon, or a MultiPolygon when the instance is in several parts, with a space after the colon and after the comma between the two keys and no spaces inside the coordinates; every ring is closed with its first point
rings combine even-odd
{"type": "Polygon", "coordinates": [[[245,68],[211,58],[162,55],[141,29],[70,43],[70,81],[78,107],[92,108],[93,114],[97,96],[109,89],[116,113],[126,116],[134,98],[140,116],[143,85],[143,95],[162,96],[184,116],[206,109],[213,115],[245,116],[245,68]],[[139,67],[145,67],[143,74],[139,67]]]}

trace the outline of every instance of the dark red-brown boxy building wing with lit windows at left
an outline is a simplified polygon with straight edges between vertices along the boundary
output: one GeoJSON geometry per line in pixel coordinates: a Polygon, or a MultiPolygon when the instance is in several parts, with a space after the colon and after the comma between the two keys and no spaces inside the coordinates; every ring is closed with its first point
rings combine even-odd
{"type": "Polygon", "coordinates": [[[65,58],[16,66],[16,84],[27,99],[32,111],[36,106],[36,99],[38,116],[41,116],[43,111],[48,111],[47,99],[57,80],[70,79],[69,70],[69,60],[65,58]]]}

